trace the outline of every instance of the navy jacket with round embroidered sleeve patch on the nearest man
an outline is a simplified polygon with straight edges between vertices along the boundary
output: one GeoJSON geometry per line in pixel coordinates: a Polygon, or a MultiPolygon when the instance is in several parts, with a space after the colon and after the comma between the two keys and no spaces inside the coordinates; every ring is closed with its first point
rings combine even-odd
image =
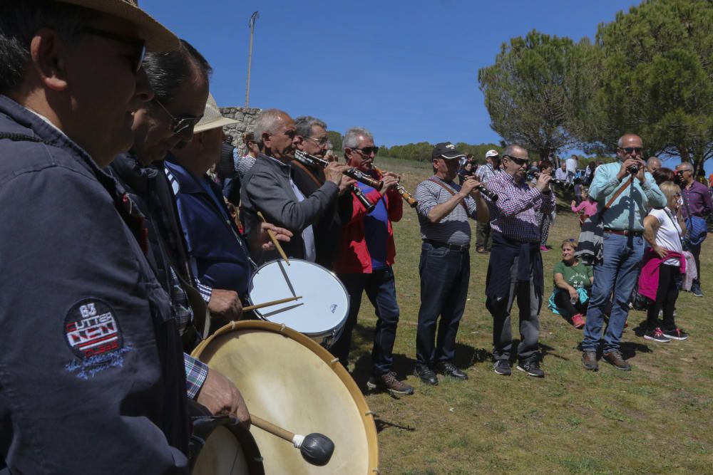
{"type": "Polygon", "coordinates": [[[168,296],[116,182],[0,95],[0,471],[188,474],[168,296]]]}

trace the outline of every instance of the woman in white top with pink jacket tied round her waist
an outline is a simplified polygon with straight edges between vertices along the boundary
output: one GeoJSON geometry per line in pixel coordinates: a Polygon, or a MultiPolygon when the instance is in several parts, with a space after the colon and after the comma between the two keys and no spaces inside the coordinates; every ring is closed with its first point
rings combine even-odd
{"type": "Polygon", "coordinates": [[[640,289],[647,284],[650,288],[656,288],[655,299],[651,293],[647,295],[642,292],[653,300],[647,309],[644,338],[667,343],[672,339],[688,338],[688,335],[676,326],[673,315],[681,278],[681,236],[686,228],[680,212],[681,189],[673,182],[663,182],[659,187],[666,196],[667,204],[663,209],[652,209],[644,219],[644,239],[651,249],[644,256],[640,289]],[[650,276],[655,276],[656,270],[658,282],[647,282],[655,280],[650,276]],[[660,310],[663,310],[662,325],[659,325],[657,320],[660,310]]]}

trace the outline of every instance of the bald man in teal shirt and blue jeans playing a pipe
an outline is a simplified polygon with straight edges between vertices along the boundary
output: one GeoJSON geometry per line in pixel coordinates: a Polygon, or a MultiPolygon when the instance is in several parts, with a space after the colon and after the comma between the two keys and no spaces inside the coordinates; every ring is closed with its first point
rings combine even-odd
{"type": "Polygon", "coordinates": [[[620,342],[629,313],[629,297],[644,254],[644,217],[647,209],[666,206],[666,197],[651,174],[645,172],[642,150],[641,137],[623,135],[617,142],[619,161],[598,167],[589,188],[589,196],[603,209],[621,187],[626,187],[600,218],[604,226],[604,253],[594,265],[594,286],[582,342],[582,363],[587,370],[599,369],[596,352],[605,307],[612,291],[614,296],[604,334],[603,357],[619,370],[631,370],[620,351],[620,342]],[[633,180],[626,180],[627,177],[633,180]]]}

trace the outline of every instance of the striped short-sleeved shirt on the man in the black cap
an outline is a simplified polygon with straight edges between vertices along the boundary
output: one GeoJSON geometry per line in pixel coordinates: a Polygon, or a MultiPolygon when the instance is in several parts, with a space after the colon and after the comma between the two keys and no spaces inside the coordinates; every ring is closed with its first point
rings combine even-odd
{"type": "MultiPolygon", "coordinates": [[[[455,182],[445,182],[436,176],[431,179],[445,184],[454,194],[461,191],[461,185],[455,182]]],[[[419,200],[416,211],[421,224],[421,239],[448,244],[471,244],[471,225],[468,223],[468,217],[476,218],[476,200],[468,196],[461,201],[468,208],[468,214],[463,205],[458,203],[448,216],[435,224],[431,223],[428,218],[431,209],[453,197],[453,194],[448,193],[441,185],[431,182],[431,179],[424,180],[416,187],[416,199],[419,200]]]]}

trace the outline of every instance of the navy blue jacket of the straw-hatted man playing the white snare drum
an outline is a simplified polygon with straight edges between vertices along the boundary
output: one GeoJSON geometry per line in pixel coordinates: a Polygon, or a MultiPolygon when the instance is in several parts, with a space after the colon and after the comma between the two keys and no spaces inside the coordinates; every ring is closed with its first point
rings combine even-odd
{"type": "Polygon", "coordinates": [[[173,157],[168,160],[166,167],[175,179],[173,191],[193,272],[201,283],[235,291],[244,299],[252,266],[247,244],[230,219],[220,188],[208,180],[211,196],[197,177],[175,163],[173,157]]]}

